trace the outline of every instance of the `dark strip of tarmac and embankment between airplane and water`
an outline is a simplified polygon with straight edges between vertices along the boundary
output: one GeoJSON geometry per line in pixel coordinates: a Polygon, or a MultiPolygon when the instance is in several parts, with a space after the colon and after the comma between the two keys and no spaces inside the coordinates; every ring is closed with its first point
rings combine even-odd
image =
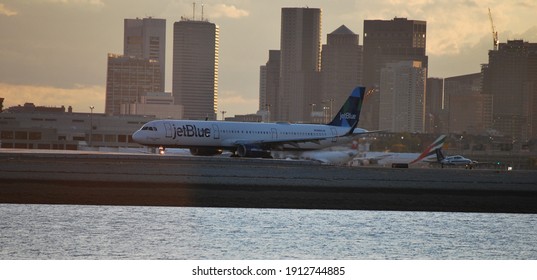
{"type": "Polygon", "coordinates": [[[0,203],[537,213],[537,172],[0,149],[0,203]]]}

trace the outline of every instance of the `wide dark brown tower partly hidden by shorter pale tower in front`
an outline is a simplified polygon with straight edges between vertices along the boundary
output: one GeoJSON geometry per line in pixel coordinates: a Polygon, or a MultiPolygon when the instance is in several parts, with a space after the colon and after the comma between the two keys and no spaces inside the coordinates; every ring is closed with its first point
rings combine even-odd
{"type": "MultiPolygon", "coordinates": [[[[380,71],[387,63],[420,61],[428,68],[425,55],[427,22],[394,18],[393,20],[364,20],[364,85],[379,87],[380,71]]],[[[382,91],[382,88],[379,88],[382,91]]],[[[364,102],[364,127],[378,129],[379,94],[364,102]]]]}

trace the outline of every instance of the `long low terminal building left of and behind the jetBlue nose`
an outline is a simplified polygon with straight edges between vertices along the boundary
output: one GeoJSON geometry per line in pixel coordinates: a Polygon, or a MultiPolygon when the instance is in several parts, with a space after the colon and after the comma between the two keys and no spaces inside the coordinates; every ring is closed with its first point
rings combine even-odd
{"type": "Polygon", "coordinates": [[[73,113],[31,103],[0,113],[0,147],[121,151],[141,146],[132,134],[154,116],[73,113]]]}

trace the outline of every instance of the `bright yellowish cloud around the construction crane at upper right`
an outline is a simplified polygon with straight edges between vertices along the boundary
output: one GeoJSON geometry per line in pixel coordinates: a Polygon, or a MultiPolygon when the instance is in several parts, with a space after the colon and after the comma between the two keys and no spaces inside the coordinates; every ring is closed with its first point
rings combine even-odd
{"type": "Polygon", "coordinates": [[[378,0],[357,6],[355,18],[425,20],[427,54],[451,56],[476,46],[481,37],[492,33],[489,8],[500,42],[504,42],[503,33],[520,33],[534,25],[528,18],[534,17],[536,6],[534,0],[378,0]]]}

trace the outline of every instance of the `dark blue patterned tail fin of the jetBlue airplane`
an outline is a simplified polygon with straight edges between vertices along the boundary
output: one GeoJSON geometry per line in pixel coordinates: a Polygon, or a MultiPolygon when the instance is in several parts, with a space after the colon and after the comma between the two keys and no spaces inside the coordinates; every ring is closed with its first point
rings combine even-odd
{"type": "Polygon", "coordinates": [[[364,96],[365,87],[356,87],[328,125],[348,127],[350,128],[350,133],[352,133],[360,119],[360,111],[362,110],[364,96]]]}

